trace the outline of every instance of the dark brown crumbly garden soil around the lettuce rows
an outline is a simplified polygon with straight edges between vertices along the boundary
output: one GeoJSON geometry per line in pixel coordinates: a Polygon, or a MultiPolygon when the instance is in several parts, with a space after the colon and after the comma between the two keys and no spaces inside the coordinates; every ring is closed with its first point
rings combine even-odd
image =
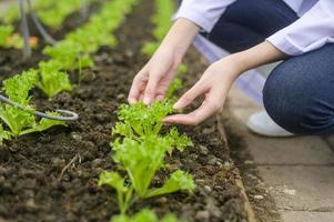
{"type": "MultiPolygon", "coordinates": [[[[97,183],[103,170],[117,170],[110,131],[118,105],[126,102],[132,78],[146,61],[140,49],[151,38],[152,11],[151,1],[134,9],[117,31],[118,48],[102,48],[95,56],[95,68],[84,71],[83,81],[72,92],[52,101],[34,92],[38,109],[68,109],[80,119],[0,148],[0,221],[109,221],[119,213],[113,190],[97,183]]],[[[190,70],[184,88],[189,88],[205,65],[194,51],[185,63],[190,70]]],[[[235,184],[239,173],[221,128],[215,118],[199,127],[180,128],[194,147],[168,158],[169,168],[153,181],[160,185],[170,172],[182,169],[194,175],[194,194],[180,192],[139,201],[130,213],[150,208],[160,215],[173,212],[190,222],[246,221],[245,200],[235,184]]]]}

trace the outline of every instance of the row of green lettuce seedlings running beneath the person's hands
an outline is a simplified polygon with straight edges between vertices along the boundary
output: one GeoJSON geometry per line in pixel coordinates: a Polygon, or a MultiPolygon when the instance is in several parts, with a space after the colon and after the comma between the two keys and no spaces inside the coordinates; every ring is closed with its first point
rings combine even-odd
{"type": "MultiPolygon", "coordinates": [[[[174,4],[169,0],[156,0],[155,6],[156,13],[152,20],[155,24],[156,41],[143,47],[142,52],[146,56],[152,56],[158,49],[159,42],[170,29],[170,18],[174,11],[174,4]]],[[[173,92],[180,87],[181,80],[178,79],[168,90],[166,97],[172,98],[173,92]]],[[[168,168],[165,157],[171,155],[174,149],[182,152],[192,145],[191,140],[185,134],[180,134],[176,128],[162,133],[162,119],[174,112],[172,104],[173,99],[156,101],[149,107],[142,102],[120,105],[119,122],[111,132],[115,139],[110,143],[112,158],[118,163],[119,171],[105,171],[99,179],[100,186],[105,185],[115,190],[120,215],[113,216],[111,222],[179,221],[171,213],[159,219],[148,209],[142,209],[132,216],[126,214],[131,205],[139,200],[178,191],[192,193],[195,189],[192,175],[182,170],[172,172],[165,181],[160,182],[160,188],[152,188],[154,176],[168,168]]]]}

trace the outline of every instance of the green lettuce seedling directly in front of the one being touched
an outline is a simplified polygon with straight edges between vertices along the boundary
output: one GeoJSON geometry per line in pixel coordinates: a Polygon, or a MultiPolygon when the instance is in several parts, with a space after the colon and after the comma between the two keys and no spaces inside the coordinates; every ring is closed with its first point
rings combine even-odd
{"type": "Polygon", "coordinates": [[[164,158],[173,141],[156,135],[146,137],[141,142],[125,138],[122,143],[117,140],[111,143],[114,150],[113,159],[126,171],[125,179],[115,172],[104,172],[100,175],[99,185],[109,185],[117,190],[121,213],[125,213],[131,201],[138,198],[146,199],[176,191],[192,192],[195,188],[192,175],[181,170],[172,173],[161,188],[150,189],[154,175],[164,168],[164,158]]]}

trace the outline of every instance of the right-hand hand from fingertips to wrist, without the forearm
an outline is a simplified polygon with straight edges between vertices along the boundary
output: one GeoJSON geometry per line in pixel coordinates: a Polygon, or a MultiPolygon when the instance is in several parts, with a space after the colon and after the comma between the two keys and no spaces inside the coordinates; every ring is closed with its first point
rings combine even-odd
{"type": "Polygon", "coordinates": [[[200,108],[188,114],[174,114],[164,119],[165,123],[180,123],[195,125],[221,111],[225,103],[229,90],[242,70],[232,57],[213,63],[203,73],[202,78],[174,104],[174,109],[183,109],[198,97],[204,94],[205,99],[200,108]]]}

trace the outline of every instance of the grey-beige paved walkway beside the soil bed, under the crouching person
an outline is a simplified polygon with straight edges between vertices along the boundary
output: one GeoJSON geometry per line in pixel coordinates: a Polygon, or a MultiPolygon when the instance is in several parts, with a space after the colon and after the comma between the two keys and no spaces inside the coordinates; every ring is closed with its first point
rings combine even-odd
{"type": "MultiPolygon", "coordinates": [[[[260,110],[235,88],[229,108],[240,122],[260,110]]],[[[334,137],[269,139],[239,129],[284,222],[334,222],[334,137]]]]}

